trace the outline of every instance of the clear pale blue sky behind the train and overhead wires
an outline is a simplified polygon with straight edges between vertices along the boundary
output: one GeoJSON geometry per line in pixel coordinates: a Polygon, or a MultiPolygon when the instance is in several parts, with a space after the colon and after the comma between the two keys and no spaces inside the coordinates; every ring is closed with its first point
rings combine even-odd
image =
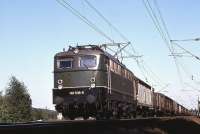
{"type": "MultiPolygon", "coordinates": [[[[156,31],[142,0],[89,1],[129,39],[148,67],[162,81],[162,86],[152,82],[155,91],[163,91],[188,108],[197,106],[197,97],[200,96],[197,91],[200,83],[199,61],[192,57],[177,58],[185,68],[180,70],[182,83],[185,83],[181,84],[174,60],[169,56],[169,50],[156,31]]],[[[84,0],[70,2],[112,39],[123,42],[84,0]]],[[[158,4],[172,39],[200,36],[200,1],[160,0],[158,4]]],[[[34,107],[54,109],[52,104],[54,55],[63,48],[77,43],[108,42],[109,40],[96,33],[56,0],[1,0],[0,91],[5,91],[9,78],[16,76],[27,86],[34,107]]],[[[200,42],[180,44],[200,56],[200,42]]],[[[144,79],[133,60],[125,60],[124,64],[136,76],[144,79]]],[[[151,78],[148,79],[151,81],[151,78]]]]}

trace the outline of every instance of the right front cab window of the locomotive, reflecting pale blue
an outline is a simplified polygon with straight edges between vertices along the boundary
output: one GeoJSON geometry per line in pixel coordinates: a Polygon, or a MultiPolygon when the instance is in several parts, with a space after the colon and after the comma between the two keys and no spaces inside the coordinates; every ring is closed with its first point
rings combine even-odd
{"type": "Polygon", "coordinates": [[[84,55],[80,57],[80,67],[93,68],[97,65],[97,58],[94,55],[84,55]]]}

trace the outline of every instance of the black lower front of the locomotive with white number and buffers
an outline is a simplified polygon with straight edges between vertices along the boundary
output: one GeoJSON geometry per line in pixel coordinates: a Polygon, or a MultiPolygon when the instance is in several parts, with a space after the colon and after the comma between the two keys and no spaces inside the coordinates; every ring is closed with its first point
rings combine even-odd
{"type": "Polygon", "coordinates": [[[64,117],[94,116],[106,100],[104,88],[53,90],[54,103],[64,117]],[[59,100],[62,98],[62,100],[59,100]],[[87,114],[86,114],[87,113],[87,114]]]}

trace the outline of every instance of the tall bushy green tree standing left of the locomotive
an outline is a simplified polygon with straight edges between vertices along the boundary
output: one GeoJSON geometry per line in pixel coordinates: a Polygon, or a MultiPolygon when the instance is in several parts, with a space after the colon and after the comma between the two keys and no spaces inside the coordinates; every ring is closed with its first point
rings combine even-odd
{"type": "Polygon", "coordinates": [[[9,122],[26,122],[32,119],[32,101],[23,82],[12,76],[5,92],[9,122]]]}

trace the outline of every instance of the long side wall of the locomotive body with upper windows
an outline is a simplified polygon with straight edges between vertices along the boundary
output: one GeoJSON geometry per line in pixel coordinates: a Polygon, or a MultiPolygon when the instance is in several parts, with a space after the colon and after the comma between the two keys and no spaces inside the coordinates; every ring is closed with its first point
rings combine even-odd
{"type": "Polygon", "coordinates": [[[121,63],[109,59],[109,71],[111,81],[111,99],[126,103],[135,103],[136,89],[133,82],[133,74],[121,63]]]}

